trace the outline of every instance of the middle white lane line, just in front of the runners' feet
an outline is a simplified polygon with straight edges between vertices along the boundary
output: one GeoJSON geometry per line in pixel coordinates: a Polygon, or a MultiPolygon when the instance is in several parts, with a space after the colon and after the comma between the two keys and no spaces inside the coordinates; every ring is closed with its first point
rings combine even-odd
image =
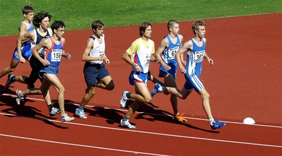
{"type": "MultiPolygon", "coordinates": [[[[43,120],[43,121],[48,120],[48,119],[40,119],[40,118],[33,118],[33,117],[26,117],[26,116],[17,116],[17,115],[4,114],[4,113],[0,113],[0,114],[15,116],[15,117],[31,118],[31,119],[37,119],[37,120],[43,120]]],[[[62,123],[62,122],[56,121],[56,120],[48,120],[48,121],[62,123]]],[[[136,131],[136,130],[131,130],[131,129],[111,128],[111,127],[103,127],[103,126],[96,126],[96,125],[80,124],[80,123],[74,123],[74,122],[63,122],[63,124],[72,124],[72,125],[80,125],[80,126],[87,126],[87,127],[104,128],[104,129],[119,130],[119,131],[130,131],[130,132],[135,132],[135,133],[146,133],[146,134],[163,135],[163,136],[180,137],[180,138],[189,138],[189,139],[208,140],[208,141],[219,141],[219,142],[229,142],[229,143],[269,146],[269,147],[280,147],[280,148],[282,147],[282,146],[279,146],[279,145],[269,145],[269,144],[260,144],[260,143],[249,143],[249,142],[240,142],[240,141],[209,139],[209,138],[182,136],[182,135],[173,135],[173,134],[164,134],[164,133],[155,133],[155,132],[147,132],[147,131],[136,131]]]]}

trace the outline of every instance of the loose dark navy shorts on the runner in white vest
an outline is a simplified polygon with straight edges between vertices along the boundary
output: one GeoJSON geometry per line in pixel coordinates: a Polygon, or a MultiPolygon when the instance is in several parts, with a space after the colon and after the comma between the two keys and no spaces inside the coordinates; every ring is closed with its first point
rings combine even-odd
{"type": "Polygon", "coordinates": [[[84,64],[84,79],[87,86],[96,85],[104,77],[109,76],[108,70],[105,68],[105,64],[90,64],[86,62],[84,64]]]}

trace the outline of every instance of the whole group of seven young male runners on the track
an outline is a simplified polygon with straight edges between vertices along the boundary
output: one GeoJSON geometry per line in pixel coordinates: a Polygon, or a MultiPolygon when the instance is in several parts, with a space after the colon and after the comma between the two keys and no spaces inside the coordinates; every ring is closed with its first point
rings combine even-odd
{"type": "MultiPolygon", "coordinates": [[[[1,71],[0,78],[8,74],[6,89],[16,81],[28,85],[28,90],[16,91],[18,105],[27,95],[43,95],[50,116],[61,113],[62,122],[72,121],[75,118],[67,116],[64,111],[64,87],[57,77],[61,57],[68,60],[71,58],[71,55],[63,50],[65,42],[63,38],[64,23],[54,21],[49,28],[51,15],[47,12],[40,12],[34,16],[34,9],[29,5],[23,8],[23,15],[25,20],[19,28],[19,38],[11,64],[1,71]],[[33,25],[36,27],[35,29],[33,29],[33,25]],[[29,61],[32,68],[30,75],[28,77],[13,75],[11,72],[16,69],[17,65],[25,63],[26,60],[29,61]],[[34,86],[37,79],[42,82],[39,88],[34,86]],[[55,108],[51,104],[49,94],[51,85],[58,92],[59,108],[55,108]]],[[[120,126],[135,129],[136,126],[129,123],[129,118],[141,105],[149,103],[152,97],[160,92],[166,95],[170,94],[174,120],[182,123],[187,122],[182,117],[183,113],[178,112],[177,97],[185,99],[195,90],[202,98],[203,110],[209,120],[210,127],[213,130],[223,127],[226,123],[213,118],[209,105],[209,94],[199,79],[203,59],[206,59],[210,65],[214,64],[214,61],[207,56],[205,51],[206,31],[204,21],[193,22],[194,37],[184,44],[182,44],[183,36],[179,34],[180,29],[177,21],[170,20],[167,28],[168,35],[162,39],[155,53],[155,43],[150,39],[152,35],[151,23],[140,24],[140,37],[131,43],[122,56],[122,59],[131,66],[129,84],[134,85],[135,93],[122,91],[120,99],[122,108],[126,107],[127,100],[134,99],[134,102],[128,107],[128,112],[120,120],[120,126]],[[183,59],[185,51],[187,52],[186,61],[183,59]],[[160,64],[158,76],[164,78],[163,82],[151,74],[149,70],[150,62],[160,64]],[[186,79],[182,90],[177,88],[175,81],[178,66],[186,79]],[[153,91],[149,91],[147,87],[148,80],[155,83],[153,91]]],[[[105,54],[104,24],[100,20],[96,20],[92,23],[92,30],[93,34],[88,38],[82,56],[82,60],[85,62],[83,72],[87,89],[80,106],[75,110],[75,115],[81,119],[87,119],[84,108],[95,95],[96,87],[106,90],[114,89],[113,79],[105,68],[105,64],[109,64],[110,60],[105,54]]]]}

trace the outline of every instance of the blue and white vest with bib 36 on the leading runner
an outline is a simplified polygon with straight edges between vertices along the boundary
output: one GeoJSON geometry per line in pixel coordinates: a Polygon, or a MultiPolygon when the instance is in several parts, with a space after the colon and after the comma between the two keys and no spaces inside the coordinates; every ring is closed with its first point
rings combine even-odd
{"type": "Polygon", "coordinates": [[[205,52],[205,44],[202,40],[203,44],[201,47],[196,45],[196,43],[193,41],[193,39],[190,39],[193,43],[193,49],[192,51],[188,51],[187,53],[187,64],[186,64],[186,71],[188,71],[188,74],[191,75],[192,73],[200,74],[201,71],[201,64],[205,52]]]}

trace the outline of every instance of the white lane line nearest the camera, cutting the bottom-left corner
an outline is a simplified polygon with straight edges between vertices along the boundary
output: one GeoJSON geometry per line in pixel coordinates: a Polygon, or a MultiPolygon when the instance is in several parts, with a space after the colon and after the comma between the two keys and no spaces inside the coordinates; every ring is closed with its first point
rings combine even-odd
{"type": "Polygon", "coordinates": [[[169,156],[169,155],[156,154],[156,153],[147,153],[147,152],[139,152],[139,151],[131,151],[131,150],[122,150],[122,149],[90,146],[90,145],[83,145],[83,144],[74,144],[74,143],[67,143],[67,142],[57,142],[57,141],[50,141],[50,140],[42,140],[42,139],[35,139],[35,138],[28,138],[28,137],[21,137],[21,136],[7,135],[7,134],[0,134],[0,135],[1,136],[6,136],[6,137],[14,137],[14,138],[21,138],[21,139],[28,139],[28,140],[35,140],[35,141],[43,141],[43,142],[50,142],[50,143],[58,143],[58,144],[65,144],[65,145],[73,145],[73,146],[82,146],[82,147],[89,147],[89,148],[105,149],[105,150],[122,151],[122,152],[134,153],[134,154],[169,156]]]}

